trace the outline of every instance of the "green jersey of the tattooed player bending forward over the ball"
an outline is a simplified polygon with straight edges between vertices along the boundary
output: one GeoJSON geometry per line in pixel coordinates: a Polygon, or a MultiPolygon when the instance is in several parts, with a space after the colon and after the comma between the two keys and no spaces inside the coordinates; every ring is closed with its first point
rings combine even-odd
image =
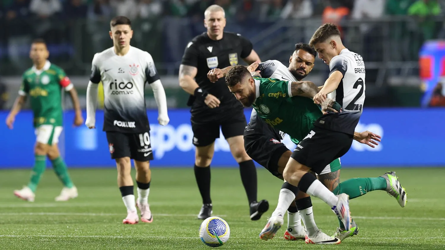
{"type": "Polygon", "coordinates": [[[311,131],[323,113],[312,99],[292,96],[292,81],[254,77],[257,115],[276,130],[288,134],[298,143],[311,131]]]}

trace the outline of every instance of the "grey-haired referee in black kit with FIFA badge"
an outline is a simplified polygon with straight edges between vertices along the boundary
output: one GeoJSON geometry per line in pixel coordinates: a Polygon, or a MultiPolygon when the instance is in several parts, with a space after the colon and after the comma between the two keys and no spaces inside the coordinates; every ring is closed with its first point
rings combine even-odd
{"type": "Polygon", "coordinates": [[[225,79],[211,83],[207,72],[212,68],[237,65],[239,59],[251,64],[261,61],[252,49],[252,43],[239,34],[224,32],[224,9],[211,5],[204,12],[207,32],[196,36],[187,45],[179,67],[179,85],[189,93],[193,144],[196,147],[194,173],[202,196],[198,218],[206,219],[212,213],[210,198],[210,163],[219,128],[239,163],[241,180],[250,205],[250,217],[258,220],[269,208],[266,200],[257,202],[257,178],[253,160],[244,149],[243,133],[247,126],[243,105],[229,91],[225,79]],[[196,81],[194,80],[196,79],[196,81]]]}

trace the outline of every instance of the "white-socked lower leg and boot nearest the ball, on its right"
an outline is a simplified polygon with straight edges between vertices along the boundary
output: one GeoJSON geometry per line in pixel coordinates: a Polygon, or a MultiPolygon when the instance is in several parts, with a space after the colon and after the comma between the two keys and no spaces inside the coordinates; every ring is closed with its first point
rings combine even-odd
{"type": "Polygon", "coordinates": [[[289,208],[291,203],[294,202],[296,194],[298,194],[298,187],[292,186],[287,182],[283,183],[279,192],[277,207],[266,226],[264,226],[261,233],[259,233],[260,239],[269,240],[274,238],[277,231],[283,226],[284,212],[289,208]]]}

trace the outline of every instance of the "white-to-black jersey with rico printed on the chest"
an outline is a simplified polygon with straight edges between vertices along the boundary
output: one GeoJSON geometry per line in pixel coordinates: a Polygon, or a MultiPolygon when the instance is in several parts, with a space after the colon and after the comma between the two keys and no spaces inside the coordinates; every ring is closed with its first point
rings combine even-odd
{"type": "Polygon", "coordinates": [[[104,86],[104,131],[142,133],[150,130],[144,87],[159,79],[148,52],[130,47],[125,56],[114,48],[93,58],[90,80],[104,86]]]}

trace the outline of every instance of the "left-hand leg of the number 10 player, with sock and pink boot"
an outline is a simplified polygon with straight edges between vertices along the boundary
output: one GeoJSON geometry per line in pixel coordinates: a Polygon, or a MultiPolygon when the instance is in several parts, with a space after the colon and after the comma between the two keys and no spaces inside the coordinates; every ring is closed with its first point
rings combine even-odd
{"type": "Polygon", "coordinates": [[[127,208],[127,217],[122,221],[124,224],[136,224],[139,222],[136,201],[134,200],[134,186],[131,178],[131,162],[129,157],[116,159],[117,185],[121,190],[122,201],[127,208]]]}

